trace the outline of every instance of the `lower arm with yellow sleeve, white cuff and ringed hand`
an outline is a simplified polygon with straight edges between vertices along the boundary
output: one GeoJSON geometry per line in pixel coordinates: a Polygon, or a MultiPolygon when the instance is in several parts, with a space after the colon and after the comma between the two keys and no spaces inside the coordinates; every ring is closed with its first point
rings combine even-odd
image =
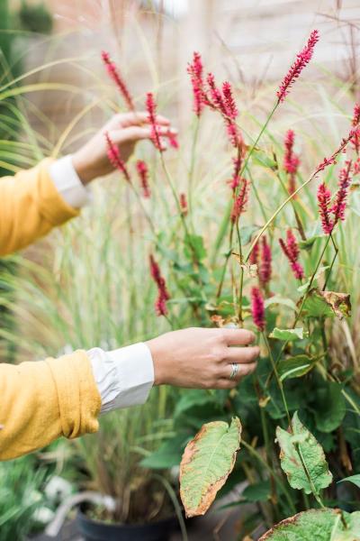
{"type": "Polygon", "coordinates": [[[255,370],[258,347],[242,347],[253,340],[243,329],[190,328],[113,352],[0,364],[0,460],[96,432],[100,412],[144,403],[153,384],[232,389],[255,370]]]}

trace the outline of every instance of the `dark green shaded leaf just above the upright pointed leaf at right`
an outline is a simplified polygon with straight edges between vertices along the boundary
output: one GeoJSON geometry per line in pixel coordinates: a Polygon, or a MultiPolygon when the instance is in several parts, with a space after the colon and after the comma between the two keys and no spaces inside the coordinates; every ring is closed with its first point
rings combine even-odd
{"type": "Polygon", "coordinates": [[[316,390],[314,417],[321,432],[336,430],[346,414],[346,403],[342,387],[335,381],[326,382],[316,390]]]}

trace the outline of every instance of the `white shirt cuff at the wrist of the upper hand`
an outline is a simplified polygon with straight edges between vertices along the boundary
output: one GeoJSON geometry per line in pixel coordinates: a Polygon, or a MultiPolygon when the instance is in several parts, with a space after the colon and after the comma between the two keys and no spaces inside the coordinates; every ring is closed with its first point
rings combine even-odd
{"type": "Polygon", "coordinates": [[[91,192],[79,179],[70,154],[51,163],[49,174],[67,205],[80,208],[90,201],[91,192]]]}

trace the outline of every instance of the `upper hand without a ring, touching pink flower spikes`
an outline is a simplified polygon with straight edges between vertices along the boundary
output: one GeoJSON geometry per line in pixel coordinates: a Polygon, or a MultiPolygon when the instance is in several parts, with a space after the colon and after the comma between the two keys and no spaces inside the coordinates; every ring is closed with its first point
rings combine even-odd
{"type": "MultiPolygon", "coordinates": [[[[166,137],[171,131],[170,121],[165,116],[157,115],[159,135],[166,137]]],[[[87,184],[97,177],[103,177],[113,170],[107,157],[107,145],[104,133],[109,133],[112,141],[118,145],[121,159],[126,161],[134,151],[135,144],[142,139],[151,139],[151,129],[147,113],[125,113],[114,115],[112,119],[95,133],[90,141],[73,155],[73,165],[77,175],[87,184]]]]}

